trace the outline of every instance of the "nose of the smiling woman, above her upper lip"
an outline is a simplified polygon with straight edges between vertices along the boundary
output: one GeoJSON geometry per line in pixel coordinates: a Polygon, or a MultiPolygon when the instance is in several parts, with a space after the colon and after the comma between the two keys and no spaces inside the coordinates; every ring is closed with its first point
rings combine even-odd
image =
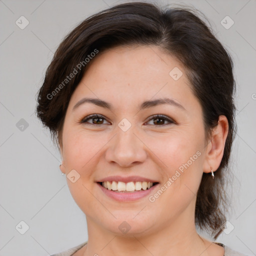
{"type": "Polygon", "coordinates": [[[132,126],[123,131],[117,127],[117,134],[109,141],[105,158],[109,163],[122,167],[132,166],[145,161],[146,146],[132,126]]]}

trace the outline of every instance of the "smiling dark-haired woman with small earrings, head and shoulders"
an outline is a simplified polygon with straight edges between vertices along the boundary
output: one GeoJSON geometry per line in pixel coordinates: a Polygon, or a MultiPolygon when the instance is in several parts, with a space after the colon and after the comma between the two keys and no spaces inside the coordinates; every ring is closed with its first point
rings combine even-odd
{"type": "Polygon", "coordinates": [[[224,229],[234,89],[229,54],[185,8],[123,3],[75,27],[37,116],[88,241],[55,255],[243,255],[196,231],[224,229]]]}

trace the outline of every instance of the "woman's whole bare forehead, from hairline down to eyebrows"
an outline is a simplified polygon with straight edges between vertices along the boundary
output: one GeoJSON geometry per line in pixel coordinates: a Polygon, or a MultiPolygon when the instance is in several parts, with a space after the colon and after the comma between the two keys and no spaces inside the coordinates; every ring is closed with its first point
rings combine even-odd
{"type": "Polygon", "coordinates": [[[118,46],[91,61],[70,99],[72,105],[85,95],[127,106],[154,96],[196,100],[182,65],[157,46],[118,46]],[[178,79],[172,70],[179,72],[178,79]]]}

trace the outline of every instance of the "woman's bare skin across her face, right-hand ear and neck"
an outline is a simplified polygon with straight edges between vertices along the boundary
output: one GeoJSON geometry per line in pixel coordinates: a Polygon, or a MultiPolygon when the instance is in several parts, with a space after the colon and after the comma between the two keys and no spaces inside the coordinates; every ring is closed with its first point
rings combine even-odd
{"type": "Polygon", "coordinates": [[[75,169],[80,175],[74,183],[67,178],[67,184],[87,220],[88,243],[74,255],[223,256],[223,247],[197,234],[194,211],[202,173],[218,168],[227,131],[221,115],[206,139],[202,108],[185,70],[157,46],[119,46],[98,53],[71,96],[59,143],[61,171],[75,169]],[[183,73],[176,81],[169,75],[174,67],[183,73]],[[105,100],[113,108],[84,103],[72,111],[83,97],[105,100]],[[139,111],[143,101],[163,97],[184,109],[161,104],[139,111]],[[90,114],[105,119],[80,122],[90,114]],[[154,114],[174,123],[147,120],[154,114]],[[123,118],[131,123],[127,131],[118,126],[123,118]],[[162,186],[198,150],[200,156],[154,202],[148,196],[118,202],[95,183],[110,175],[139,175],[162,186]],[[122,221],[131,227],[126,234],[118,229],[122,221]]]}

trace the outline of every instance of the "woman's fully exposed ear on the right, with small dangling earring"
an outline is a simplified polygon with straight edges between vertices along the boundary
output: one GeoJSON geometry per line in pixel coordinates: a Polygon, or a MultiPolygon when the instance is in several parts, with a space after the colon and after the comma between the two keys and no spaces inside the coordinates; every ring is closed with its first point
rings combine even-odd
{"type": "Polygon", "coordinates": [[[225,115],[220,115],[218,124],[212,129],[210,141],[205,150],[203,172],[215,171],[223,157],[225,141],[228,133],[228,121],[225,115]]]}

